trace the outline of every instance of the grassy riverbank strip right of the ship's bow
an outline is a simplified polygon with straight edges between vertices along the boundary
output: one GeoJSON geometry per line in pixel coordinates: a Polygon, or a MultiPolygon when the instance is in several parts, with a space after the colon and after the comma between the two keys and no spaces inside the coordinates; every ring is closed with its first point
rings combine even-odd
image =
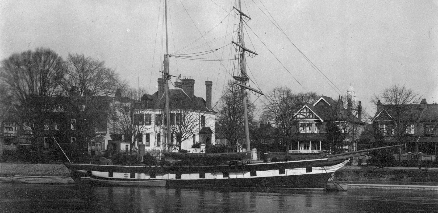
{"type": "Polygon", "coordinates": [[[438,170],[362,167],[362,169],[336,171],[335,181],[375,184],[433,183],[435,185],[438,184],[438,170]]]}

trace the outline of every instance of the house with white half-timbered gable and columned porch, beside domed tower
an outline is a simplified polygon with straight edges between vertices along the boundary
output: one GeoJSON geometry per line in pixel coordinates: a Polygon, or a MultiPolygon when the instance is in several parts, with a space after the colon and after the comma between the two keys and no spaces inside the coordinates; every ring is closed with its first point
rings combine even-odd
{"type": "Polygon", "coordinates": [[[357,105],[357,117],[352,113],[352,102],[348,99],[347,109],[343,107],[343,97],[338,101],[331,97],[321,96],[313,104],[305,104],[294,115],[296,134],[290,143],[289,153],[332,153],[328,137],[328,124],[336,124],[345,134],[344,146],[341,149],[357,150],[357,139],[364,130],[361,121],[362,106],[357,105]]]}

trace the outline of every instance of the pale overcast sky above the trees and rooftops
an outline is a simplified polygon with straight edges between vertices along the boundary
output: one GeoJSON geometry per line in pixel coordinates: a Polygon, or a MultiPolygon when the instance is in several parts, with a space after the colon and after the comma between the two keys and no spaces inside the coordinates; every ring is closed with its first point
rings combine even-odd
{"type": "MultiPolygon", "coordinates": [[[[166,53],[163,4],[2,0],[0,60],[38,47],[64,59],[69,53],[84,54],[105,61],[132,87],[152,94],[166,53]]],[[[204,60],[171,57],[170,73],[191,76],[195,96],[203,98],[210,79],[215,103],[232,79],[233,63],[205,59],[234,58],[230,43],[236,40],[232,7],[237,4],[168,0],[168,5],[170,54],[218,49],[199,56],[204,60]]],[[[427,103],[438,102],[438,0],[242,0],[242,11],[251,17],[245,26],[246,47],[258,53],[247,57],[250,85],[262,92],[287,86],[338,99],[351,83],[371,115],[371,97],[394,84],[413,89],[427,103]]],[[[252,95],[251,101],[261,112],[263,96],[252,95]]]]}

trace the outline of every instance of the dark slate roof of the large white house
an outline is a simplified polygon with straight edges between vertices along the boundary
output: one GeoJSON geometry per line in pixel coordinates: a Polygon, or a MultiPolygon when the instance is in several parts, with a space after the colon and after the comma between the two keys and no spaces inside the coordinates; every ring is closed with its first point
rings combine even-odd
{"type": "MultiPolygon", "coordinates": [[[[174,102],[179,100],[179,101],[191,103],[188,107],[191,110],[216,113],[214,110],[208,110],[207,107],[205,107],[205,100],[203,98],[197,96],[193,96],[192,98],[190,98],[189,96],[187,96],[187,94],[184,92],[183,89],[180,88],[169,89],[169,96],[170,96],[170,109],[180,108],[177,107],[177,104],[173,104],[174,102]]],[[[136,109],[162,110],[164,109],[165,106],[165,100],[158,99],[158,91],[152,95],[144,94],[141,97],[141,101],[142,101],[141,103],[137,103],[135,105],[136,109]]]]}

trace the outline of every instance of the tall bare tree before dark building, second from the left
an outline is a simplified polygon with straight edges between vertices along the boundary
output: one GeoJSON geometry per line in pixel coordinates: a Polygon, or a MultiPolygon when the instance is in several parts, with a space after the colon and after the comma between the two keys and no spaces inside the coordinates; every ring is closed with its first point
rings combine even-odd
{"type": "Polygon", "coordinates": [[[126,87],[127,83],[103,61],[79,54],[68,55],[63,88],[80,150],[86,150],[88,141],[95,137],[95,129],[106,131],[106,111],[111,101],[108,96],[126,87]]]}

